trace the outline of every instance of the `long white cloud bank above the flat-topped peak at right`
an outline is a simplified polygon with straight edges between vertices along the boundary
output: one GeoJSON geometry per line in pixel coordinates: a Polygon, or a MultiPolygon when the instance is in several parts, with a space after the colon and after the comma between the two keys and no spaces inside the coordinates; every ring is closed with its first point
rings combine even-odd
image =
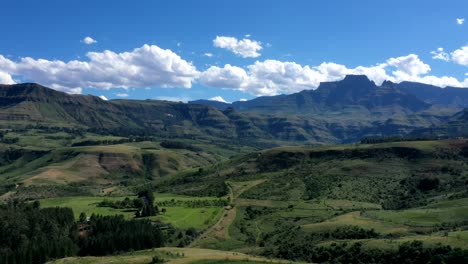
{"type": "Polygon", "coordinates": [[[348,68],[333,62],[318,66],[302,66],[295,62],[278,60],[257,61],[245,69],[226,64],[211,66],[200,75],[200,83],[217,88],[231,88],[256,96],[294,93],[304,89],[315,89],[320,82],[342,80],[348,74],[363,74],[381,85],[383,81],[414,81],[445,86],[467,86],[468,81],[458,81],[449,76],[428,75],[431,67],[417,55],[409,54],[390,58],[374,66],[348,68]]]}

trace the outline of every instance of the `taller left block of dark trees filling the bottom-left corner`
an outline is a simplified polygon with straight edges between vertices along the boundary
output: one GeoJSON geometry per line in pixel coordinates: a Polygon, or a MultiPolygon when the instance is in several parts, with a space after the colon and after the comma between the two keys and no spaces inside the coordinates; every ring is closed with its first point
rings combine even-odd
{"type": "Polygon", "coordinates": [[[44,263],[78,252],[70,208],[9,202],[0,206],[0,234],[0,263],[44,263]]]}

